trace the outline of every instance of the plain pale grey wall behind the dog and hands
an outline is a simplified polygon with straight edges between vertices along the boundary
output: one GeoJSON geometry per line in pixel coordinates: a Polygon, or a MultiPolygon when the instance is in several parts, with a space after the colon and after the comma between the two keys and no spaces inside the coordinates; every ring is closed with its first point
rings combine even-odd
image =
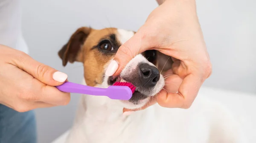
{"type": "MultiPolygon", "coordinates": [[[[57,52],[77,28],[137,31],[157,7],[155,0],[23,0],[22,4],[30,55],[76,83],[83,78],[82,64],[64,68],[57,52]]],[[[197,7],[213,65],[204,86],[256,93],[256,1],[197,0],[197,7]]],[[[49,143],[71,126],[78,98],[73,94],[68,106],[36,110],[39,143],[49,143]]]]}

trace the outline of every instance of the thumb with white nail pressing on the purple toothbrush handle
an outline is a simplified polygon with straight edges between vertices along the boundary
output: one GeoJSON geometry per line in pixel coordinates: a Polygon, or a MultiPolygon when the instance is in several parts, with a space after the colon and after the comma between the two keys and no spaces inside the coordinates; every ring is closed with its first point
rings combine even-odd
{"type": "Polygon", "coordinates": [[[29,73],[44,84],[58,86],[67,80],[67,74],[35,61],[26,53],[21,54],[18,60],[15,58],[14,62],[15,66],[29,73]]]}

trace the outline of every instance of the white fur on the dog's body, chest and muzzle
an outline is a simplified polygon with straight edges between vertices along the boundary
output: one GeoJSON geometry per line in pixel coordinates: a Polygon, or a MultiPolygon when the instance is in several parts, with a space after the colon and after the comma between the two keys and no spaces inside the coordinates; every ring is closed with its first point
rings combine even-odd
{"type": "MultiPolygon", "coordinates": [[[[119,30],[119,33],[125,32],[119,30]]],[[[124,35],[129,37],[127,33],[124,35]]],[[[121,74],[128,74],[141,61],[147,62],[143,56],[136,56],[121,74]]],[[[108,87],[107,79],[97,87],[108,87]]],[[[159,92],[163,82],[161,76],[152,95],[159,92]]],[[[123,107],[137,108],[146,102],[135,106],[104,96],[83,95],[66,143],[244,143],[239,123],[230,112],[202,97],[197,97],[189,109],[155,104],[122,115],[123,107]]]]}

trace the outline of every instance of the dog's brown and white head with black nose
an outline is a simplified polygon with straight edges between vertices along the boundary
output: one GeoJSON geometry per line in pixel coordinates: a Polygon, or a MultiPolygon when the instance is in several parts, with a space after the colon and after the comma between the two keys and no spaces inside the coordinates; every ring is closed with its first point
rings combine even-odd
{"type": "Polygon", "coordinates": [[[58,55],[63,66],[66,66],[67,62],[76,61],[84,64],[84,79],[88,86],[107,88],[116,81],[134,84],[136,90],[132,98],[129,101],[118,102],[128,109],[140,108],[164,86],[163,76],[158,70],[161,67],[158,60],[160,58],[157,57],[159,52],[147,50],[135,56],[119,76],[105,76],[105,70],[118,48],[134,34],[134,31],[117,28],[96,30],[82,27],[70,37],[58,55]]]}

